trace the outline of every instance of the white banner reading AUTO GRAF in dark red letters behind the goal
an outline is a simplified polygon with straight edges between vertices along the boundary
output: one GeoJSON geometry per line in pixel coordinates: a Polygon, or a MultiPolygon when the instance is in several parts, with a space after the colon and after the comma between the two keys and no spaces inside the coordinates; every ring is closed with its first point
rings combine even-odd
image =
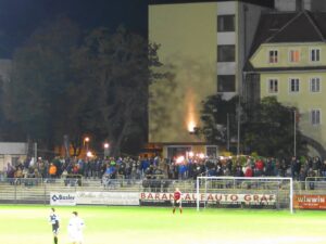
{"type": "MultiPolygon", "coordinates": [[[[173,193],[153,193],[141,192],[139,201],[142,203],[164,203],[173,200],[173,193]]],[[[183,202],[196,203],[197,193],[183,193],[183,202]]],[[[247,205],[274,205],[276,203],[275,194],[221,194],[221,193],[201,193],[199,202],[211,204],[247,204],[247,205]]]]}

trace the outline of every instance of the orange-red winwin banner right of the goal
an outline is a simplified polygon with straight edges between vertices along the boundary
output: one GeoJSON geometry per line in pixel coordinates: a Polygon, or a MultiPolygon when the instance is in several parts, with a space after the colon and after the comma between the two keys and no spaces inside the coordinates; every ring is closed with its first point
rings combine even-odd
{"type": "Polygon", "coordinates": [[[326,195],[294,195],[293,207],[299,209],[326,209],[326,195]]]}

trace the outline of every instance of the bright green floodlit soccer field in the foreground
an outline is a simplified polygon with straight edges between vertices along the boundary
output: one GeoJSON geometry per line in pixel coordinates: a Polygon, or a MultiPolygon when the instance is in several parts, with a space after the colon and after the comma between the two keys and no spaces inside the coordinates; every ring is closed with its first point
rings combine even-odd
{"type": "MultiPolygon", "coordinates": [[[[85,244],[325,244],[326,211],[184,209],[154,207],[57,207],[59,243],[67,244],[66,226],[77,210],[85,220],[85,244]]],[[[0,205],[3,244],[53,243],[50,206],[0,205]]]]}

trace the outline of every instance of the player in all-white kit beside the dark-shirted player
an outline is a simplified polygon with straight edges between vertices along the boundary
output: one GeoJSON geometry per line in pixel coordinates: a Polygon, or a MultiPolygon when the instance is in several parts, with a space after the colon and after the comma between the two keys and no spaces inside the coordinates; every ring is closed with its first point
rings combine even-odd
{"type": "Polygon", "coordinates": [[[77,211],[73,211],[73,217],[70,220],[67,231],[72,244],[83,244],[83,230],[85,228],[84,220],[78,217],[77,211]]]}

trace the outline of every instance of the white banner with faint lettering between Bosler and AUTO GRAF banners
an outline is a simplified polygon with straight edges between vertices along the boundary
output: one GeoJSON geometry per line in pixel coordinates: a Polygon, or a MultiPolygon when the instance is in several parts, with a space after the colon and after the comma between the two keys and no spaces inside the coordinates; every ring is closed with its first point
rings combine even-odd
{"type": "Polygon", "coordinates": [[[76,203],[86,205],[139,205],[137,192],[76,192],[76,203]]]}

